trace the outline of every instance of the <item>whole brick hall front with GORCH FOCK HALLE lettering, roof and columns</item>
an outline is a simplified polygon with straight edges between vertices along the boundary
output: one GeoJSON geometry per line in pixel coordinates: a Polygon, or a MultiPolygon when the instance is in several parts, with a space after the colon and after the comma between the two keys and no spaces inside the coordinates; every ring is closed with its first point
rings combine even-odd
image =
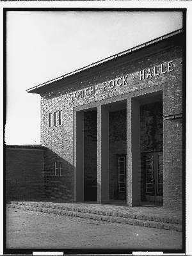
{"type": "Polygon", "coordinates": [[[183,41],[180,29],[28,90],[46,198],[182,208],[183,41]]]}

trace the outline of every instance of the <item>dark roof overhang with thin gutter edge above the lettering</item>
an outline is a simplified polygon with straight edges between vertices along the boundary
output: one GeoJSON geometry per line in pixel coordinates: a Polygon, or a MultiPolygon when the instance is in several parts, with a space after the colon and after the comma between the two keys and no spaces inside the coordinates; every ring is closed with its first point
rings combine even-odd
{"type": "Polygon", "coordinates": [[[93,63],[92,65],[80,68],[79,70],[70,72],[64,76],[58,77],[46,83],[39,84],[38,86],[28,89],[27,92],[36,94],[49,92],[50,90],[59,88],[61,86],[66,86],[70,83],[75,83],[95,74],[106,72],[107,70],[123,65],[124,63],[129,63],[138,58],[143,58],[143,56],[148,56],[154,54],[155,52],[164,51],[164,49],[172,47],[173,42],[180,44],[180,41],[182,40],[181,33],[182,29],[173,31],[172,33],[146,42],[145,44],[138,45],[127,51],[120,52],[114,56],[98,61],[97,63],[93,63]]]}

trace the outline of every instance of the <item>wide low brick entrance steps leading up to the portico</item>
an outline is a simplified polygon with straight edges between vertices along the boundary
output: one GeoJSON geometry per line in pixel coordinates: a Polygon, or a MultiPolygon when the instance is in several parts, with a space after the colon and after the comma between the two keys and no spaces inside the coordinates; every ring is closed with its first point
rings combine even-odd
{"type": "Polygon", "coordinates": [[[61,214],[74,218],[89,218],[182,232],[182,211],[163,209],[163,204],[148,202],[141,202],[141,206],[130,207],[125,204],[125,201],[120,201],[112,200],[109,204],[97,204],[97,202],[51,202],[50,200],[42,200],[42,202],[35,202],[35,200],[9,201],[8,207],[23,211],[61,214]]]}

